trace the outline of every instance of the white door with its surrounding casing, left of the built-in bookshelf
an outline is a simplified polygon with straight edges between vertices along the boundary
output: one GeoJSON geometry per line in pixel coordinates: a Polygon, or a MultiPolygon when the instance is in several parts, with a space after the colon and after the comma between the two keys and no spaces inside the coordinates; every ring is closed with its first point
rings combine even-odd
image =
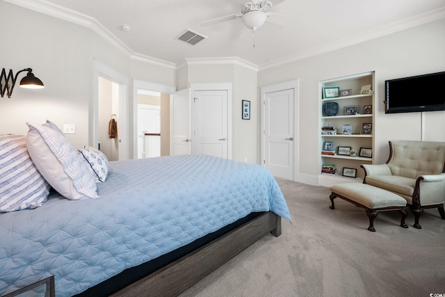
{"type": "Polygon", "coordinates": [[[261,88],[261,160],[273,176],[294,180],[298,80],[261,88]]]}

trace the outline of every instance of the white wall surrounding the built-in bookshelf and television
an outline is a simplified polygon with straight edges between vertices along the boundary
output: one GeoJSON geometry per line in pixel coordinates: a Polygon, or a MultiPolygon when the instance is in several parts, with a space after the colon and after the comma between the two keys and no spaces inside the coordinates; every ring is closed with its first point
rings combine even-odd
{"type": "MultiPolygon", "coordinates": [[[[375,163],[389,155],[388,141],[421,140],[421,113],[385,114],[385,80],[445,71],[445,20],[387,35],[358,45],[260,71],[258,85],[300,79],[298,108],[300,172],[318,168],[318,81],[375,71],[375,163]]],[[[439,87],[439,86],[438,86],[439,87]]],[[[445,111],[423,113],[424,141],[445,141],[445,111]]],[[[297,176],[296,179],[299,177],[297,176]]]]}

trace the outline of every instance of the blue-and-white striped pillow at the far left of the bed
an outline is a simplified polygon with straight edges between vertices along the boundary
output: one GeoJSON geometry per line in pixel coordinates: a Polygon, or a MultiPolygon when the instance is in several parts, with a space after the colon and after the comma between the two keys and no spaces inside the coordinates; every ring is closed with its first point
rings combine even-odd
{"type": "Polygon", "coordinates": [[[0,212],[40,207],[49,184],[26,150],[25,136],[0,135],[0,212]]]}

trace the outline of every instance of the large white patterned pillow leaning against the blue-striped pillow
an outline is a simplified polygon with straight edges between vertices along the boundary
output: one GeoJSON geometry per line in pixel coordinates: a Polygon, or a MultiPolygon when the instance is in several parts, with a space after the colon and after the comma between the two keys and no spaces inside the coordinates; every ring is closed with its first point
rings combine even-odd
{"type": "Polygon", "coordinates": [[[67,138],[49,127],[26,125],[26,147],[44,179],[70,200],[99,198],[95,177],[67,138]]]}

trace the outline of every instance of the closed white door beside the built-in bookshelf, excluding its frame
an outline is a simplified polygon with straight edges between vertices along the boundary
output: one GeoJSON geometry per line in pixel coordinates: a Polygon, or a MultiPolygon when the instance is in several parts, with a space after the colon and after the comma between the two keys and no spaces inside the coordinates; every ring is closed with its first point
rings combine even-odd
{"type": "Polygon", "coordinates": [[[264,97],[264,166],[275,176],[293,179],[293,89],[264,97]]]}

